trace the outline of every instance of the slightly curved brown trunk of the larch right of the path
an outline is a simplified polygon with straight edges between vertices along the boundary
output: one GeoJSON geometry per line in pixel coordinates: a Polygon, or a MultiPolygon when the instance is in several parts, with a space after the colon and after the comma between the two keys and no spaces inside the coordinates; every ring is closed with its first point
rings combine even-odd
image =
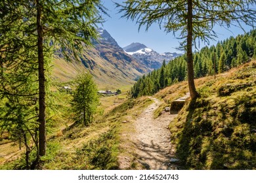
{"type": "Polygon", "coordinates": [[[198,97],[194,84],[194,65],[192,55],[193,27],[192,27],[192,0],[188,0],[188,37],[186,39],[186,59],[188,65],[188,88],[192,100],[198,97]]]}

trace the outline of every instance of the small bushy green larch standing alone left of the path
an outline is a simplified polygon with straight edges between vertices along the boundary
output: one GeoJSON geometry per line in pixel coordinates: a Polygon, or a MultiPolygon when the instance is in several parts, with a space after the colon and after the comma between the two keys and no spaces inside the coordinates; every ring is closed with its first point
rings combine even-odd
{"type": "Polygon", "coordinates": [[[93,121],[96,108],[99,104],[97,87],[93,76],[83,73],[75,79],[77,87],[73,92],[72,112],[75,122],[88,125],[93,121]]]}

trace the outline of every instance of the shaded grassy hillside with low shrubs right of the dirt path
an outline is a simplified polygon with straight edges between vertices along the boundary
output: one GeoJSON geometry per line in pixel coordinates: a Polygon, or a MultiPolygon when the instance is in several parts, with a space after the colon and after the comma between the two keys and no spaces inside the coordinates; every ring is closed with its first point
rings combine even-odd
{"type": "Polygon", "coordinates": [[[196,84],[200,99],[169,125],[183,168],[256,169],[256,61],[196,84]]]}

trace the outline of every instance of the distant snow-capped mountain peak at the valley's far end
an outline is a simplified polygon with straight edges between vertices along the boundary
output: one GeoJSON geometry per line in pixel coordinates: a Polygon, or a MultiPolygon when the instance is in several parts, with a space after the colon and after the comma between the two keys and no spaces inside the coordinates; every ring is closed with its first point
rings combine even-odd
{"type": "Polygon", "coordinates": [[[160,68],[163,60],[168,62],[177,56],[181,56],[181,54],[170,52],[160,54],[139,42],[133,42],[128,46],[125,46],[123,47],[123,50],[151,69],[160,68]]]}

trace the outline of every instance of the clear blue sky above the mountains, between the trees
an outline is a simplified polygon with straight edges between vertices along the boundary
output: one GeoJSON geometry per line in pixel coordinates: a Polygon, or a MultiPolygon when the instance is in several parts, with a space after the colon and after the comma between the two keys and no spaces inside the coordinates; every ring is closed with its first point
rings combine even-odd
{"type": "MultiPolygon", "coordinates": [[[[140,42],[145,44],[149,48],[152,48],[156,52],[178,52],[176,50],[179,46],[179,42],[172,33],[165,33],[163,29],[160,29],[158,25],[152,25],[148,31],[145,31],[143,27],[138,31],[139,25],[125,18],[121,18],[120,13],[115,8],[113,2],[121,3],[123,0],[102,0],[104,7],[108,8],[108,14],[111,17],[106,17],[106,22],[103,24],[103,28],[112,35],[117,41],[119,46],[124,47],[132,42],[140,42]]],[[[249,31],[250,27],[244,27],[246,31],[249,31]]],[[[217,40],[221,41],[230,36],[236,37],[238,34],[243,34],[244,31],[238,27],[230,27],[230,29],[215,27],[215,31],[218,33],[217,40]]],[[[217,41],[211,41],[210,45],[216,44],[217,41]]],[[[200,48],[203,44],[200,45],[200,48]]]]}

